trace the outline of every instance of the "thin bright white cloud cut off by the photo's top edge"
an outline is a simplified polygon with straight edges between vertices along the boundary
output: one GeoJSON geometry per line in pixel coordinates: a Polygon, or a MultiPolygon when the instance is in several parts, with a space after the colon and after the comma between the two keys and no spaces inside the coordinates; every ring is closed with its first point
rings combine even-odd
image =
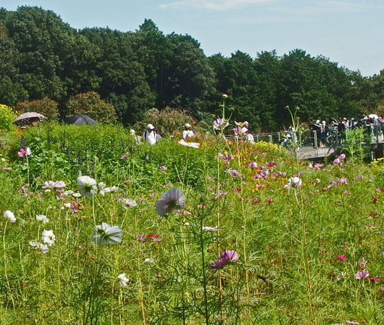
{"type": "Polygon", "coordinates": [[[262,3],[274,3],[276,0],[185,0],[178,2],[165,3],[159,5],[160,8],[169,8],[176,6],[188,6],[193,8],[202,8],[208,10],[226,11],[234,10],[246,5],[259,5],[262,3]]]}

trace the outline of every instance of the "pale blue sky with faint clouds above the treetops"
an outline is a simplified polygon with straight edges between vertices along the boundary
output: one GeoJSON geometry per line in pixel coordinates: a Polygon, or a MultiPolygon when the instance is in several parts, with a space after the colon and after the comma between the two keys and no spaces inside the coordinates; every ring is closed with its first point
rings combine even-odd
{"type": "Polygon", "coordinates": [[[164,34],[189,34],[206,56],[238,49],[253,58],[303,49],[339,67],[379,74],[384,69],[383,0],[1,0],[16,10],[37,5],[71,27],[138,29],[152,19],[164,34]]]}

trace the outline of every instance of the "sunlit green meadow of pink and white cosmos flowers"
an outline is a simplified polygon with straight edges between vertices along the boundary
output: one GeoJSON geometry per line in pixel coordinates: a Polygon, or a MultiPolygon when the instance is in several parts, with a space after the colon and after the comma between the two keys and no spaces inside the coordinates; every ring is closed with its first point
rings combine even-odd
{"type": "Polygon", "coordinates": [[[1,135],[1,324],[384,324],[384,165],[269,143],[1,135]]]}

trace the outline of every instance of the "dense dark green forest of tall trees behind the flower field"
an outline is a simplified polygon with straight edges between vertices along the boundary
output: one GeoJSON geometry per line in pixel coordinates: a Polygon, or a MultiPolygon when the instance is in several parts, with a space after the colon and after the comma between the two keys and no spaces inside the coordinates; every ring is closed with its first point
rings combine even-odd
{"type": "Polygon", "coordinates": [[[193,37],[164,35],[150,19],[134,32],[77,30],[50,10],[2,8],[0,67],[0,104],[54,101],[60,117],[86,93],[114,106],[124,124],[167,106],[211,121],[223,93],[235,120],[252,130],[287,124],[285,106],[300,106],[303,121],[384,113],[384,69],[363,77],[302,49],[207,57],[193,37]]]}

